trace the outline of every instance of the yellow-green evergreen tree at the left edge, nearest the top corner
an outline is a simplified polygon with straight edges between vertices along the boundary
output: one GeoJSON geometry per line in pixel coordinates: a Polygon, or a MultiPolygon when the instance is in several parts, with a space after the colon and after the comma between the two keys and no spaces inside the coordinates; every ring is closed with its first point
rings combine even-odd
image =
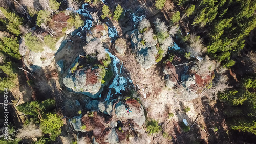
{"type": "Polygon", "coordinates": [[[2,20],[9,32],[18,36],[20,34],[19,26],[22,25],[23,19],[17,16],[15,13],[7,12],[6,9],[0,7],[1,12],[4,14],[6,20],[2,20]]]}

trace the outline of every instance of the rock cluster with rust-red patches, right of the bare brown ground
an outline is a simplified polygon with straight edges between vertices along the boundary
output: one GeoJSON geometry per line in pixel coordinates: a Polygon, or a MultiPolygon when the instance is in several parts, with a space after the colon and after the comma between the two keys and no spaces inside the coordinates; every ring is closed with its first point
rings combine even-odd
{"type": "MultiPolygon", "coordinates": [[[[175,57],[177,59],[177,57],[175,57]]],[[[175,60],[174,60],[175,61],[175,60]]],[[[191,101],[198,98],[198,93],[214,78],[214,73],[209,76],[197,74],[198,66],[194,63],[174,66],[167,61],[163,66],[164,82],[168,88],[177,89],[180,101],[191,101]]]]}

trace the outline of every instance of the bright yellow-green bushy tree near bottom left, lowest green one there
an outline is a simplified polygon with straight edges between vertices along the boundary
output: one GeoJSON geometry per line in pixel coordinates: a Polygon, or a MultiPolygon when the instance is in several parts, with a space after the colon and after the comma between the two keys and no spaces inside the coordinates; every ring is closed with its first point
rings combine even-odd
{"type": "Polygon", "coordinates": [[[62,119],[52,113],[48,113],[45,118],[41,119],[40,129],[45,134],[50,134],[51,140],[55,141],[56,137],[61,133],[63,126],[62,119]]]}

